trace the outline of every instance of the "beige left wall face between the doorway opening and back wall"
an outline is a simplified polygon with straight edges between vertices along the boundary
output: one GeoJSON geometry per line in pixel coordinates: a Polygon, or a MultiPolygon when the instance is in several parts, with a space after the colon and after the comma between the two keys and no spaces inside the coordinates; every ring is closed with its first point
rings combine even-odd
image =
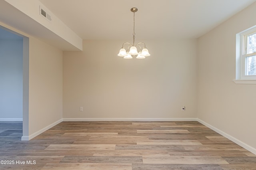
{"type": "Polygon", "coordinates": [[[62,119],[62,51],[30,37],[29,135],[62,119]]]}

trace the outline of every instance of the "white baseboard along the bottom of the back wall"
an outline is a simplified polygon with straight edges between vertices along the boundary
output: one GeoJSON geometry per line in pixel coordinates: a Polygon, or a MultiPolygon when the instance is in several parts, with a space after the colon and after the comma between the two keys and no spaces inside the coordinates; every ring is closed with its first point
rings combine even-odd
{"type": "Polygon", "coordinates": [[[63,118],[63,121],[197,121],[197,118],[63,118]]]}

